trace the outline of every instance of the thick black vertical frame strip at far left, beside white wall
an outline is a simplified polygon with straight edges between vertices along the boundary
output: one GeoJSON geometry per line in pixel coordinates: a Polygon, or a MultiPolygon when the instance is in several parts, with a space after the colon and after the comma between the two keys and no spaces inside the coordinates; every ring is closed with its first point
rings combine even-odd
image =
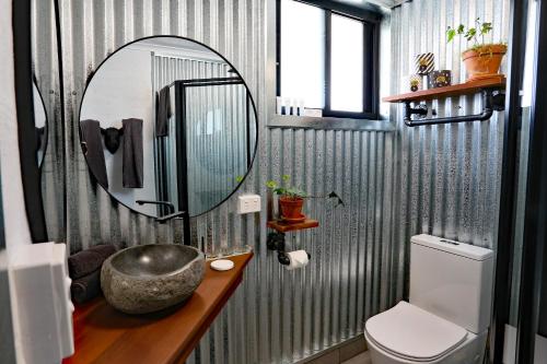
{"type": "Polygon", "coordinates": [[[44,243],[48,238],[42,201],[39,167],[36,162],[30,0],[12,1],[12,26],[15,107],[25,210],[33,243],[44,243]]]}

